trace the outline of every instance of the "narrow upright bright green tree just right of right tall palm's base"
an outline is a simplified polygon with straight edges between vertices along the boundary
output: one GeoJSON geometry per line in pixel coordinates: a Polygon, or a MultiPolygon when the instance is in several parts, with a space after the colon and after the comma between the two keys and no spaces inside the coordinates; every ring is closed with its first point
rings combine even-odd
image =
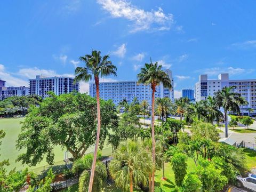
{"type": "Polygon", "coordinates": [[[172,170],[174,172],[175,183],[181,187],[187,174],[187,156],[182,153],[176,153],[171,158],[172,170]]]}

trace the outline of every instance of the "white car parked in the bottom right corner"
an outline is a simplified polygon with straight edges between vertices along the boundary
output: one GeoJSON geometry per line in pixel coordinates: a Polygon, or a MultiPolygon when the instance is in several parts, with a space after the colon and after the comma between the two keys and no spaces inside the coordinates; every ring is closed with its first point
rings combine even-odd
{"type": "Polygon", "coordinates": [[[236,177],[236,186],[239,188],[245,187],[256,191],[256,174],[249,174],[248,177],[242,178],[241,175],[236,177]]]}

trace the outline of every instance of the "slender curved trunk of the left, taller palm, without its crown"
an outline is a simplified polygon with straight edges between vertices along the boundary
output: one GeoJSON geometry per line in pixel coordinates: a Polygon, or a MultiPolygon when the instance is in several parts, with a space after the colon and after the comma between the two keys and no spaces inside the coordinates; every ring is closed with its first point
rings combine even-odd
{"type": "Polygon", "coordinates": [[[95,149],[94,149],[94,154],[93,154],[92,170],[91,170],[91,177],[90,177],[90,183],[89,183],[88,192],[92,191],[94,171],[95,171],[95,166],[96,166],[96,161],[97,161],[97,151],[98,151],[99,140],[100,140],[100,92],[99,92],[99,77],[94,77],[94,79],[95,79],[96,95],[97,95],[98,129],[97,129],[97,138],[96,138],[95,149]]]}

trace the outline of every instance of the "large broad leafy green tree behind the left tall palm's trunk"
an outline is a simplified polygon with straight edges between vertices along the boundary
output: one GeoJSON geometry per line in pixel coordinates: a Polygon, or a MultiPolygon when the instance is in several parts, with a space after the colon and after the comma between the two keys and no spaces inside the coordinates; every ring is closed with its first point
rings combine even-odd
{"type": "MultiPolygon", "coordinates": [[[[83,156],[95,142],[96,107],[94,98],[81,93],[51,94],[39,107],[30,107],[17,141],[17,148],[26,151],[18,156],[18,161],[34,166],[46,155],[47,163],[53,164],[54,146],[67,149],[74,159],[83,156]]],[[[111,101],[101,100],[101,113],[102,148],[108,130],[115,129],[118,118],[111,101]]]]}

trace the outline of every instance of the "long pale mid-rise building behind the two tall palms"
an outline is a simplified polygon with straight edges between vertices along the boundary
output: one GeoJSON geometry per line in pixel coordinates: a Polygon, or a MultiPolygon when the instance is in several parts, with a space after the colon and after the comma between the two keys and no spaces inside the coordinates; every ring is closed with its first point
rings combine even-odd
{"type": "MultiPolygon", "coordinates": [[[[172,88],[166,88],[161,83],[156,87],[156,98],[170,98],[174,100],[174,91],[173,91],[173,78],[172,71],[165,70],[169,75],[169,78],[172,82],[172,88]]],[[[91,97],[96,97],[96,86],[95,83],[90,83],[89,92],[91,97]]],[[[138,84],[137,81],[116,81],[116,82],[102,82],[99,85],[100,89],[100,98],[104,100],[113,100],[115,105],[118,105],[120,101],[126,99],[127,102],[131,103],[134,98],[137,98],[139,102],[142,100],[147,100],[151,103],[151,87],[150,85],[138,84]]]]}

